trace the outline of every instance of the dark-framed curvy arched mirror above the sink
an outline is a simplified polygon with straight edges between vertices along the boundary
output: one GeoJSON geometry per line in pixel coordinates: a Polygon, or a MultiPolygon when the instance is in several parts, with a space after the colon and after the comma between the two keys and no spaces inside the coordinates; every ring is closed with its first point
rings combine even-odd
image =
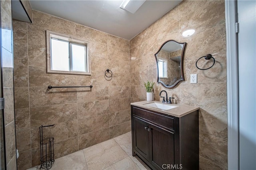
{"type": "Polygon", "coordinates": [[[168,40],[155,54],[158,68],[158,81],[166,88],[174,88],[184,80],[183,57],[186,43],[168,40]]]}

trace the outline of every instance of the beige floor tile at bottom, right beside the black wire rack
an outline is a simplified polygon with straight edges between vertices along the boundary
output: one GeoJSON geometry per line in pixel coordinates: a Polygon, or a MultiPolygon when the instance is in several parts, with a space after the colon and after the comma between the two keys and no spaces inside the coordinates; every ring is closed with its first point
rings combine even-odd
{"type": "Polygon", "coordinates": [[[55,159],[52,170],[87,170],[83,150],[55,159]]]}

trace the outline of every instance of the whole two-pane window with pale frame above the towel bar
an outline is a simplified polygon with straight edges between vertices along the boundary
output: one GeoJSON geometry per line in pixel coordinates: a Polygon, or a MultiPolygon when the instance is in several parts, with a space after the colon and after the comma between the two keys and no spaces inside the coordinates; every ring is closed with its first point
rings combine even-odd
{"type": "Polygon", "coordinates": [[[47,73],[90,75],[88,42],[46,31],[47,73]]]}

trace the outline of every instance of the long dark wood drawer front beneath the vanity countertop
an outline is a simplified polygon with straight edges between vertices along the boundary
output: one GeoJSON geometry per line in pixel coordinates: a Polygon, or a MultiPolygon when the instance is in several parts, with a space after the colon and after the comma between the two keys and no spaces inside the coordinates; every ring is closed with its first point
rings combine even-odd
{"type": "Polygon", "coordinates": [[[143,119],[156,123],[157,125],[174,130],[174,118],[172,117],[160,115],[158,113],[147,111],[138,107],[132,107],[132,112],[133,112],[133,115],[137,115],[138,117],[141,117],[143,119]]]}

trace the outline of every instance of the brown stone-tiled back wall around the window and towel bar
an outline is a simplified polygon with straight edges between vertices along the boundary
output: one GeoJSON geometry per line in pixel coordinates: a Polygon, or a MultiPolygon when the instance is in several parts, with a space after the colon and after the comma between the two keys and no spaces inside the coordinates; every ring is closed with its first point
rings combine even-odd
{"type": "Polygon", "coordinates": [[[130,131],[128,40],[34,10],[33,23],[14,20],[13,26],[19,170],[40,164],[40,125],[55,124],[44,129],[54,137],[55,158],[130,131]],[[46,30],[88,40],[92,75],[46,74],[46,30]],[[111,80],[105,79],[107,68],[111,80]]]}

